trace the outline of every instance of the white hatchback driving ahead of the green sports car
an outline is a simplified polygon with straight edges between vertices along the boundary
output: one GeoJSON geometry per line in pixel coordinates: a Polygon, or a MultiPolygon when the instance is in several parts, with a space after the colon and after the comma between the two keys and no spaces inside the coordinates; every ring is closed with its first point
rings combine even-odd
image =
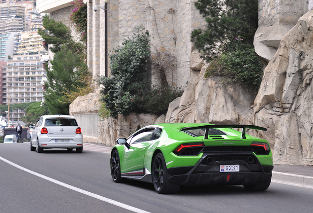
{"type": "Polygon", "coordinates": [[[40,153],[48,148],[83,151],[83,135],[74,116],[43,115],[31,133],[31,151],[40,153]]]}

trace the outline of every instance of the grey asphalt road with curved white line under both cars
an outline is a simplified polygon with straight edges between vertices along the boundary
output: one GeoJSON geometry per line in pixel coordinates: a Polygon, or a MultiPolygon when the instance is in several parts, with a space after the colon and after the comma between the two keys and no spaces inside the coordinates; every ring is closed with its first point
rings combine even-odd
{"type": "Polygon", "coordinates": [[[0,143],[0,213],[313,212],[313,188],[182,187],[178,194],[160,195],[149,183],[114,183],[109,158],[94,151],[37,153],[29,143],[0,143]]]}

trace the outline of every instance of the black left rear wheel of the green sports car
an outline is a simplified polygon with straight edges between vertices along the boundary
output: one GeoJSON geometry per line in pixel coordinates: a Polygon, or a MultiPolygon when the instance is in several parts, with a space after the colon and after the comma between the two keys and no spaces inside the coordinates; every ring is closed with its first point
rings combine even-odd
{"type": "Polygon", "coordinates": [[[171,182],[168,178],[171,176],[167,172],[165,159],[162,153],[157,153],[152,163],[152,182],[155,190],[159,194],[173,194],[177,193],[181,184],[171,182]]]}

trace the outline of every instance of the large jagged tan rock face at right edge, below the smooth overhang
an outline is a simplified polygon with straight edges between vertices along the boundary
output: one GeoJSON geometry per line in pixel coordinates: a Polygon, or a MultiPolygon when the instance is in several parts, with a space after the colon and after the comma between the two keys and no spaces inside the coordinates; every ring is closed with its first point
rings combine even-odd
{"type": "Polygon", "coordinates": [[[254,101],[255,124],[274,145],[274,161],[313,165],[313,12],[282,39],[254,101]]]}

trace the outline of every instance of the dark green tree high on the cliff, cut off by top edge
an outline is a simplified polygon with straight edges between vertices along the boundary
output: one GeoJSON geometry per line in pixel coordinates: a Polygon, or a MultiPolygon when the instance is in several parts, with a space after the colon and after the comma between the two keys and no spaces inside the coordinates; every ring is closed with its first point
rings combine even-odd
{"type": "Polygon", "coordinates": [[[210,61],[217,54],[253,43],[258,22],[258,0],[198,0],[206,29],[191,33],[191,41],[210,61]],[[235,44],[235,45],[234,45],[235,44]]]}

